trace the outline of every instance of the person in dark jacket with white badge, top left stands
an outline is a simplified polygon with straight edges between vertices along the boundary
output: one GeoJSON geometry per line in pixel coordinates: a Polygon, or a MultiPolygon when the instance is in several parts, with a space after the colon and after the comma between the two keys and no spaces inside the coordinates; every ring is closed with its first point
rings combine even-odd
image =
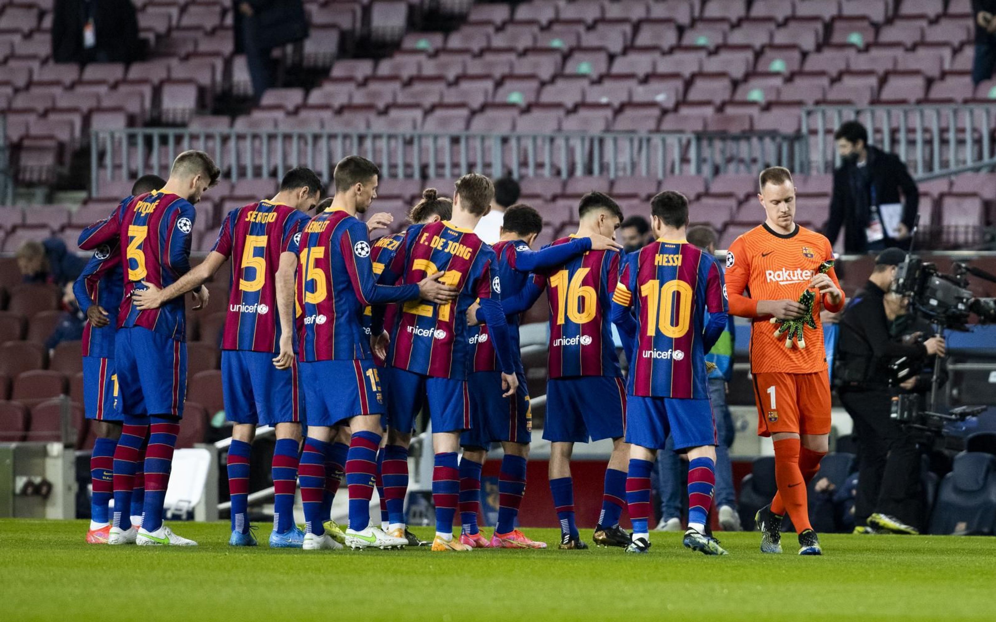
{"type": "Polygon", "coordinates": [[[130,0],[56,0],[52,60],[130,63],[140,60],[138,20],[130,0]]]}

